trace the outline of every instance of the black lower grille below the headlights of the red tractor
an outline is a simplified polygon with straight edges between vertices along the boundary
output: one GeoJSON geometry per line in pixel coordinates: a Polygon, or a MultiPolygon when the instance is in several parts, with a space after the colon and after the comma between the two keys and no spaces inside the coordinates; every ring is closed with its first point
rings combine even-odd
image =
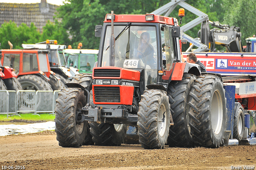
{"type": "Polygon", "coordinates": [[[94,86],[95,102],[120,103],[120,88],[112,86],[94,86]]]}

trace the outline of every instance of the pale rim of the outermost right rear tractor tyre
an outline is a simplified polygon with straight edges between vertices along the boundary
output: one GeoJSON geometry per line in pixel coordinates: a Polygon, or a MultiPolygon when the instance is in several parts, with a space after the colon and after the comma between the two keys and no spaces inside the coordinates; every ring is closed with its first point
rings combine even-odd
{"type": "Polygon", "coordinates": [[[212,96],[211,104],[211,123],[212,130],[215,134],[219,134],[222,129],[223,105],[220,92],[216,90],[212,96]]]}

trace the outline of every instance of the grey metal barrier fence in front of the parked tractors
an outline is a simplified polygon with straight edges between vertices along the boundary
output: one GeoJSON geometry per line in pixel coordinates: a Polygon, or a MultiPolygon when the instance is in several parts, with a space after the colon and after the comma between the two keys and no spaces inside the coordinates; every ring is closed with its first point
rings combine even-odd
{"type": "Polygon", "coordinates": [[[54,114],[55,101],[60,90],[0,90],[0,114],[18,113],[54,114]]]}

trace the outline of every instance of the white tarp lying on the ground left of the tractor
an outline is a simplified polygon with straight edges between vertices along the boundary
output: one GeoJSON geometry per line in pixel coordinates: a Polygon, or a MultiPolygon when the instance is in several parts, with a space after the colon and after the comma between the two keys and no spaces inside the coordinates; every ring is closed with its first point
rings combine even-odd
{"type": "Polygon", "coordinates": [[[12,134],[27,134],[42,132],[45,130],[54,130],[55,122],[33,123],[33,124],[4,124],[0,125],[0,136],[7,136],[12,134]]]}

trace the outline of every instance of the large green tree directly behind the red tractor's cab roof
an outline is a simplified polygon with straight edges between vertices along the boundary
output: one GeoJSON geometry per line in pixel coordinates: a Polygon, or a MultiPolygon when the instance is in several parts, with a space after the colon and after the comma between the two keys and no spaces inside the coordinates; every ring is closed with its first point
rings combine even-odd
{"type": "Polygon", "coordinates": [[[73,48],[82,42],[83,48],[99,48],[98,37],[94,36],[95,25],[104,21],[106,14],[114,10],[115,14],[146,14],[169,0],[68,0],[58,8],[58,18],[62,18],[63,27],[68,30],[73,48]]]}

